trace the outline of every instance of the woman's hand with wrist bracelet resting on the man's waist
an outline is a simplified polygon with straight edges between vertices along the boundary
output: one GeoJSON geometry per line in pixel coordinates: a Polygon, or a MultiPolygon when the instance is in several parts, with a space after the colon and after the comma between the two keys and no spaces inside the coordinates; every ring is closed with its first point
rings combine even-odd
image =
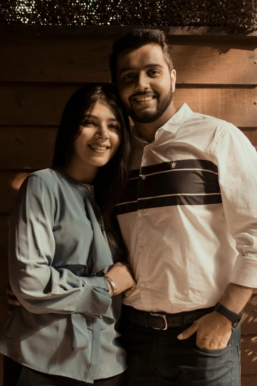
{"type": "MultiPolygon", "coordinates": [[[[114,281],[117,287],[117,295],[125,291],[124,295],[128,296],[134,291],[136,287],[136,282],[132,277],[132,272],[128,264],[115,263],[112,268],[106,273],[106,276],[110,277],[110,279],[114,281]]],[[[109,293],[113,295],[113,288],[108,282],[108,280],[106,281],[110,288],[109,293]]]]}

